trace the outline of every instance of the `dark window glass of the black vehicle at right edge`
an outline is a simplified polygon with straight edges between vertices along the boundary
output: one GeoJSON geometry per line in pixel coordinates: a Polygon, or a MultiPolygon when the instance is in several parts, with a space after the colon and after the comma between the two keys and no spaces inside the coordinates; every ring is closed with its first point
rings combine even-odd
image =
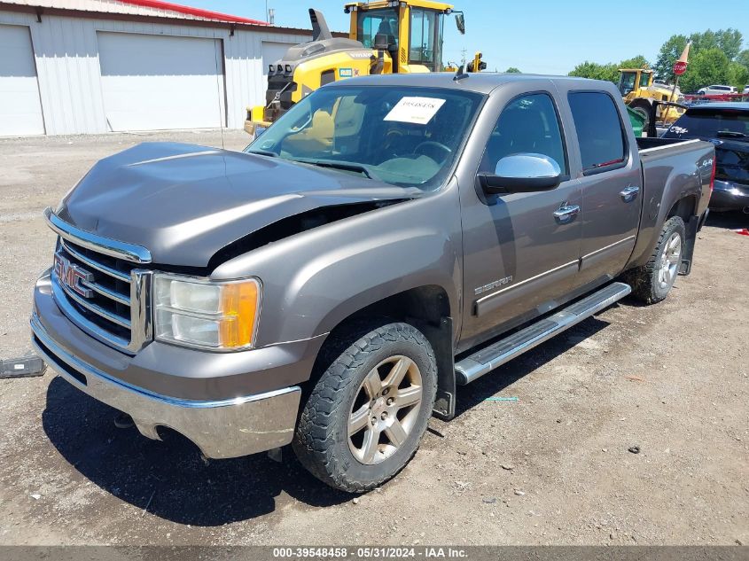
{"type": "Polygon", "coordinates": [[[665,138],[749,138],[749,111],[740,109],[699,109],[684,113],[666,131],[665,138]]]}

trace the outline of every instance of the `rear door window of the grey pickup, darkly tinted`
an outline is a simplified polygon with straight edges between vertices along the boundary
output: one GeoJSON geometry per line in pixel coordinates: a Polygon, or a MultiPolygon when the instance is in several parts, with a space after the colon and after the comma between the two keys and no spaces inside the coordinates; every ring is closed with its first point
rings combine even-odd
{"type": "Polygon", "coordinates": [[[569,94],[570,109],[580,142],[582,171],[622,163],[624,131],[613,99],[604,92],[578,91],[569,94]]]}

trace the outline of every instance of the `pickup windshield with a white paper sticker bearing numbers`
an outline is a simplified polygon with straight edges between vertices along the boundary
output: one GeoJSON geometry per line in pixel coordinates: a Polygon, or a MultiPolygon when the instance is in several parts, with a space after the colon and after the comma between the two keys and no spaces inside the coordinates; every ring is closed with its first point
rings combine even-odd
{"type": "Polygon", "coordinates": [[[328,86],[294,105],[246,152],[436,189],[482,99],[437,88],[328,86]]]}

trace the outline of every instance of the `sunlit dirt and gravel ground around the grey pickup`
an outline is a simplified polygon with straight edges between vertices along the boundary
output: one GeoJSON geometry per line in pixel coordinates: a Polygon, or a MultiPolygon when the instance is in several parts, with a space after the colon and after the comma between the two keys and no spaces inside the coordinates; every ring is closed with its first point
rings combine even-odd
{"type": "MultiPolygon", "coordinates": [[[[217,132],[0,140],[0,357],[31,349],[54,243],[43,207],[154,139],[221,145],[217,132]]],[[[433,419],[410,465],[356,503],[290,457],[206,465],[178,437],[117,429],[50,371],[0,380],[0,543],[747,544],[749,238],[731,231],[746,226],[711,218],[665,302],[625,300],[461,388],[456,419],[433,419]]]]}

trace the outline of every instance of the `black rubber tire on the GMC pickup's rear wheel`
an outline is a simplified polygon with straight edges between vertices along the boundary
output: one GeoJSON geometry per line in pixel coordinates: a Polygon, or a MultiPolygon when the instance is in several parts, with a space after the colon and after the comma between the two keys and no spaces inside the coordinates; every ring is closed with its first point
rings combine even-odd
{"type": "Polygon", "coordinates": [[[668,241],[672,239],[674,234],[679,236],[681,242],[679,263],[676,265],[676,273],[678,274],[678,269],[681,267],[686,229],[684,221],[679,216],[673,216],[663,224],[658,243],[655,245],[650,260],[643,267],[628,270],[623,276],[625,282],[632,286],[632,295],[636,300],[645,304],[655,304],[665,299],[674,286],[676,275],[666,284],[662,283],[660,278],[661,260],[667,251],[668,241]]]}

